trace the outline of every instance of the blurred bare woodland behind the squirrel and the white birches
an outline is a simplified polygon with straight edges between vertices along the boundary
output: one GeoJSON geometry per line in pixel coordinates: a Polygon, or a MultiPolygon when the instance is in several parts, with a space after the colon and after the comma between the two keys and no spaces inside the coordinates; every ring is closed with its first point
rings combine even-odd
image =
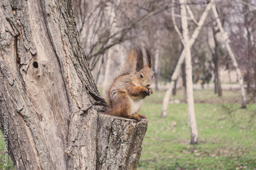
{"type": "MultiPolygon", "coordinates": [[[[187,14],[189,35],[197,27],[205,7],[210,1],[187,1],[194,18],[187,14]]],[[[105,72],[111,76],[120,67],[129,50],[136,45],[147,45],[153,56],[153,71],[158,90],[169,82],[183,50],[173,22],[181,31],[179,2],[172,1],[92,1],[72,0],[77,27],[84,51],[98,84],[105,72]],[[110,58],[109,67],[107,66],[110,58]],[[157,65],[156,65],[157,64],[157,65]],[[110,70],[106,70],[110,69],[110,70]],[[160,83],[160,85],[159,85],[160,83]]],[[[247,93],[255,95],[255,1],[216,1],[217,12],[230,46],[241,69],[247,93]]],[[[222,95],[221,82],[235,83],[234,67],[225,48],[216,19],[210,11],[197,40],[191,47],[193,82],[206,87],[214,82],[214,92],[222,95]],[[225,74],[224,74],[225,73],[225,74]]],[[[182,71],[184,74],[184,71],[182,71]]],[[[176,86],[185,83],[180,74],[176,86]]],[[[175,92],[174,92],[175,93],[175,92]]]]}

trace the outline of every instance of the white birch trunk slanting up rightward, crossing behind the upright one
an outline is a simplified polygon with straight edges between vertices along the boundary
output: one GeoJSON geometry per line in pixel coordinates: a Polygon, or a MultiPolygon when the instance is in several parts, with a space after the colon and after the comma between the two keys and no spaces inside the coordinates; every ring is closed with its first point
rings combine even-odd
{"type": "MultiPolygon", "coordinates": [[[[195,29],[195,31],[193,32],[190,40],[189,40],[189,45],[190,47],[194,44],[196,38],[198,37],[198,34],[203,26],[203,23],[208,15],[208,12],[209,10],[211,9],[211,5],[212,5],[212,2],[211,1],[205,8],[199,22],[198,22],[198,26],[197,28],[195,29]]],[[[177,80],[178,78],[178,75],[180,73],[180,68],[181,68],[181,64],[183,63],[184,61],[184,58],[185,58],[185,53],[184,53],[184,50],[182,51],[181,55],[180,55],[180,58],[178,60],[178,63],[176,65],[176,68],[174,70],[174,73],[173,73],[173,76],[172,76],[172,80],[170,81],[170,84],[169,84],[169,87],[167,89],[167,91],[165,92],[165,95],[164,95],[164,99],[163,99],[163,104],[162,104],[162,111],[161,111],[161,117],[166,117],[167,115],[167,107],[168,107],[168,101],[169,101],[169,96],[170,96],[170,93],[172,93],[172,90],[173,90],[173,87],[174,87],[174,83],[175,83],[175,80],[177,80]]]]}

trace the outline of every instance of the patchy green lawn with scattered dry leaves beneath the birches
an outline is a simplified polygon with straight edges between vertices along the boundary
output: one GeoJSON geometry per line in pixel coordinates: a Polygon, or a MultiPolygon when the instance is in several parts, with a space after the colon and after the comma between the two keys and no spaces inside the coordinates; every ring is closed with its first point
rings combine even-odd
{"type": "MultiPolygon", "coordinates": [[[[101,89],[100,89],[101,90],[101,89]]],[[[171,99],[168,115],[160,118],[164,91],[145,99],[140,113],[149,120],[138,169],[256,169],[256,104],[240,109],[239,91],[195,90],[195,111],[200,143],[189,144],[190,129],[183,92],[171,99]]],[[[0,135],[0,169],[4,166],[3,135],[0,135]]]]}

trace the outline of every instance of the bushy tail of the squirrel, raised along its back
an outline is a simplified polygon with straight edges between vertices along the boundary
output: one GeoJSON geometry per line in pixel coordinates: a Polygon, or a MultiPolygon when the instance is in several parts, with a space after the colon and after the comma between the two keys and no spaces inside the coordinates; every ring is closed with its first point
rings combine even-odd
{"type": "Polygon", "coordinates": [[[105,99],[106,103],[108,103],[109,106],[111,106],[111,104],[110,104],[110,88],[111,88],[111,86],[113,85],[115,80],[117,78],[119,78],[120,76],[130,75],[133,73],[135,74],[138,59],[141,59],[141,58],[142,58],[142,62],[143,62],[143,53],[142,53],[142,50],[140,47],[137,47],[134,51],[130,51],[130,54],[127,57],[125,64],[120,69],[118,69],[114,72],[114,74],[109,82],[104,84],[103,98],[105,99]]]}

